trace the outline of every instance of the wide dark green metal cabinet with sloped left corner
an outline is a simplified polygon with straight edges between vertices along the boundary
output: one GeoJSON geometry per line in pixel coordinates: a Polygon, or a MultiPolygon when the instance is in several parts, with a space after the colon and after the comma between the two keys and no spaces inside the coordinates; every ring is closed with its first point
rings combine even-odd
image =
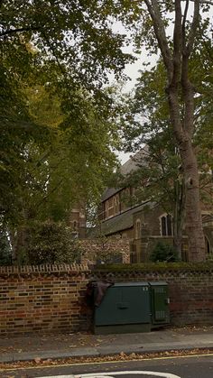
{"type": "Polygon", "coordinates": [[[148,282],[116,283],[95,309],[96,334],[151,330],[151,296],[148,282]]]}

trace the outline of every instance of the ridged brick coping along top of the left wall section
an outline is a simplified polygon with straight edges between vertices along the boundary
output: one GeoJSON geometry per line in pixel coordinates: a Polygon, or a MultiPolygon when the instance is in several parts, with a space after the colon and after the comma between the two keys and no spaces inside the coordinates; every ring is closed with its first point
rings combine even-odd
{"type": "Polygon", "coordinates": [[[57,272],[88,272],[87,264],[42,264],[23,266],[0,266],[0,274],[29,274],[29,273],[57,273],[57,272]]]}

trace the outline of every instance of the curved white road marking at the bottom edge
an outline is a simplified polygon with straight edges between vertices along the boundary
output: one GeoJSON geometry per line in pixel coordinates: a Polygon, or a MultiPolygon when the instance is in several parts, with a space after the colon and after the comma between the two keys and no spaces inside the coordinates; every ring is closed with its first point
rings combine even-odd
{"type": "Polygon", "coordinates": [[[149,372],[149,371],[126,371],[126,372],[109,372],[109,373],[88,373],[88,374],[68,374],[68,375],[51,375],[49,377],[38,378],[114,378],[115,375],[127,375],[127,374],[141,374],[141,375],[153,375],[155,377],[162,378],[181,378],[179,375],[171,373],[149,372]]]}

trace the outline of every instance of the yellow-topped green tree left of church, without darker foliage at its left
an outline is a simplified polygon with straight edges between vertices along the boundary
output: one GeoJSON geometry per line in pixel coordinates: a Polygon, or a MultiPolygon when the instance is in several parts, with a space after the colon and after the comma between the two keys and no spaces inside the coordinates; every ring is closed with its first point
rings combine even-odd
{"type": "MultiPolygon", "coordinates": [[[[34,86],[26,92],[29,114],[35,130],[38,123],[42,140],[31,140],[28,134],[18,151],[22,164],[15,179],[17,190],[11,190],[16,207],[8,207],[5,215],[14,261],[27,250],[28,226],[47,219],[69,223],[73,204],[97,202],[116,165],[111,151],[117,143],[112,115],[106,118],[105,112],[104,119],[87,92],[81,94],[82,113],[72,122],[61,113],[60,97],[48,88],[34,86]]],[[[16,159],[10,170],[17,170],[16,159]]]]}

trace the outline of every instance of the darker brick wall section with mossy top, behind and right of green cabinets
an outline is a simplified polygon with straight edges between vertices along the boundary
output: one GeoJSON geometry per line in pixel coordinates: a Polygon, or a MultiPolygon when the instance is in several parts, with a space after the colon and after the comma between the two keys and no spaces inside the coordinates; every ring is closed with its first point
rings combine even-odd
{"type": "Polygon", "coordinates": [[[213,325],[213,265],[203,269],[165,268],[147,272],[97,272],[97,278],[111,277],[116,282],[166,281],[169,286],[171,324],[213,325]]]}

